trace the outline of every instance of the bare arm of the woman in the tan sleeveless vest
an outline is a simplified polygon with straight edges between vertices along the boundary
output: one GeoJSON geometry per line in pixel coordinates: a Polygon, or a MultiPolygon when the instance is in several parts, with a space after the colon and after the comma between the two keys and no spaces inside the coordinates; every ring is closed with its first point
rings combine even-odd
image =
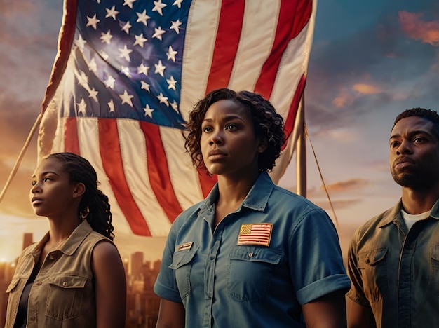
{"type": "Polygon", "coordinates": [[[123,328],[126,277],[116,247],[110,242],[99,242],[93,249],[91,267],[95,276],[96,327],[123,328]]]}

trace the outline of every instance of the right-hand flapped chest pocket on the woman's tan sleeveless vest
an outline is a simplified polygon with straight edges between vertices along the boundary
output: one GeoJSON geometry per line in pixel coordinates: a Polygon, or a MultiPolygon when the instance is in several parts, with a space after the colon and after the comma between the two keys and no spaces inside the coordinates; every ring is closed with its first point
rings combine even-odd
{"type": "Polygon", "coordinates": [[[60,275],[48,281],[46,315],[57,320],[77,317],[81,311],[87,278],[60,275]]]}

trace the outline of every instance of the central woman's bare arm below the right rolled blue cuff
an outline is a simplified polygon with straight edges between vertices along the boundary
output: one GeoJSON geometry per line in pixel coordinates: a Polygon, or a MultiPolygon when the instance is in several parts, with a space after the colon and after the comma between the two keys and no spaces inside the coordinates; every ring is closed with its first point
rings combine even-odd
{"type": "Polygon", "coordinates": [[[306,327],[346,327],[346,300],[343,292],[333,292],[302,306],[306,327]]]}

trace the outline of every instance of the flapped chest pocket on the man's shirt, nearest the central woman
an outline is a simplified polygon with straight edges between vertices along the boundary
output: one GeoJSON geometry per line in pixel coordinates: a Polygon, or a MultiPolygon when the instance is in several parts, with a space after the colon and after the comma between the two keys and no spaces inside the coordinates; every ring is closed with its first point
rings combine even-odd
{"type": "Polygon", "coordinates": [[[363,289],[372,303],[389,293],[387,279],[387,248],[376,248],[358,254],[358,268],[363,277],[363,289]]]}

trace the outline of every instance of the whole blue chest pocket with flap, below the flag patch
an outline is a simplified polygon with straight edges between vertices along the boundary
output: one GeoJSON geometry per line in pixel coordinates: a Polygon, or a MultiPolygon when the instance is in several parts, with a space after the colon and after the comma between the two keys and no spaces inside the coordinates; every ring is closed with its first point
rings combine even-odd
{"type": "Polygon", "coordinates": [[[260,246],[235,246],[229,255],[227,288],[237,301],[262,301],[269,296],[273,268],[281,250],[260,246]]]}

